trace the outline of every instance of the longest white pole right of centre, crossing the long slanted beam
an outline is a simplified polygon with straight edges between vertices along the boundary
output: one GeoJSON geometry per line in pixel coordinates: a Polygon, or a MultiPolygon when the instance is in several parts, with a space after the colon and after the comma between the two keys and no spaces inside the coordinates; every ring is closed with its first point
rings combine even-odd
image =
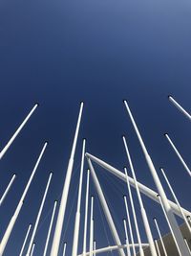
{"type": "Polygon", "coordinates": [[[173,211],[171,209],[171,206],[170,206],[170,204],[168,202],[168,199],[166,198],[165,192],[164,192],[163,187],[161,185],[161,182],[159,180],[159,176],[157,174],[155,166],[154,166],[154,164],[152,162],[152,159],[151,159],[148,151],[146,150],[146,147],[145,147],[144,142],[143,142],[143,140],[142,140],[142,138],[140,136],[140,133],[138,131],[138,127],[136,125],[136,122],[135,122],[135,120],[133,118],[133,115],[131,113],[131,110],[130,110],[129,106],[127,105],[127,102],[124,101],[124,104],[126,106],[126,109],[127,109],[127,112],[128,112],[128,114],[130,116],[131,122],[132,122],[132,124],[133,124],[133,126],[135,128],[136,133],[137,133],[139,144],[140,144],[141,149],[142,149],[142,151],[144,153],[145,160],[146,160],[147,165],[149,167],[150,173],[153,176],[154,182],[155,182],[156,187],[158,189],[159,196],[160,196],[160,198],[162,200],[162,203],[163,203],[163,206],[164,206],[164,210],[166,212],[168,220],[170,221],[171,227],[172,227],[172,229],[174,231],[175,237],[177,239],[177,243],[179,244],[180,251],[183,254],[183,256],[189,256],[189,251],[188,251],[188,249],[187,249],[187,247],[186,247],[186,245],[185,245],[185,243],[183,241],[179,225],[178,225],[178,223],[177,223],[177,221],[175,219],[175,216],[174,216],[173,211]]]}

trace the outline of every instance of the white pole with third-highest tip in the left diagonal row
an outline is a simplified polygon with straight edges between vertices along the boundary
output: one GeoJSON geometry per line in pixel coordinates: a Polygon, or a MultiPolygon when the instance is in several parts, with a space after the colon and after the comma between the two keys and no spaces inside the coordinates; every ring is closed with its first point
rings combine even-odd
{"type": "Polygon", "coordinates": [[[48,182],[47,182],[47,185],[46,185],[46,189],[45,189],[45,192],[44,192],[44,196],[43,196],[42,201],[41,201],[41,203],[40,203],[40,208],[39,208],[39,210],[38,210],[38,214],[37,214],[37,217],[36,217],[36,221],[35,221],[35,224],[34,224],[34,227],[33,227],[32,237],[31,237],[31,241],[30,241],[30,244],[29,244],[29,247],[28,247],[28,251],[27,251],[27,253],[26,253],[26,256],[30,256],[30,253],[31,253],[31,250],[32,250],[33,240],[34,240],[34,237],[35,237],[35,234],[36,234],[36,230],[37,230],[37,227],[38,227],[38,223],[39,223],[39,221],[40,221],[40,217],[41,217],[42,210],[43,210],[43,207],[44,207],[44,203],[45,203],[45,200],[46,200],[46,197],[47,197],[47,193],[48,193],[48,190],[49,190],[49,186],[50,186],[50,183],[51,183],[52,176],[53,176],[53,173],[51,173],[51,174],[49,175],[49,179],[48,179],[48,182]]]}

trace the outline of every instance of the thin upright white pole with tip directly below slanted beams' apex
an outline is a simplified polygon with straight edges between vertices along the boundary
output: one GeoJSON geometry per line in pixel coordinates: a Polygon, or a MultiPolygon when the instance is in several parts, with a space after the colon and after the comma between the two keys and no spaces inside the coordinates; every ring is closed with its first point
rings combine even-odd
{"type": "Polygon", "coordinates": [[[86,181],[86,200],[85,200],[85,217],[84,217],[85,220],[84,220],[84,234],[83,234],[83,256],[85,256],[85,254],[86,254],[89,184],[90,184],[90,170],[87,171],[87,181],[86,181]]]}

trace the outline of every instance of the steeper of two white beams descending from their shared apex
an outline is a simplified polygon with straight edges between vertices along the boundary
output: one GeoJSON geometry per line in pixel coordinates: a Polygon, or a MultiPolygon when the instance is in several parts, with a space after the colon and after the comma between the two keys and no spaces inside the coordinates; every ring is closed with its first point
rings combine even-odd
{"type": "MultiPolygon", "coordinates": [[[[91,162],[90,158],[87,158],[87,160],[88,160],[88,165],[90,167],[91,175],[93,177],[93,181],[95,183],[96,193],[97,193],[98,198],[100,200],[100,203],[101,203],[103,212],[105,214],[106,220],[108,221],[110,230],[112,232],[112,236],[114,238],[115,243],[117,245],[121,245],[120,239],[119,239],[118,234],[117,234],[117,229],[116,229],[115,223],[113,221],[113,218],[112,218],[112,215],[110,213],[109,207],[107,205],[106,199],[105,199],[105,197],[103,195],[103,192],[102,192],[101,186],[99,184],[99,181],[98,181],[98,179],[96,177],[96,173],[95,173],[94,167],[92,165],[92,162],[91,162]]],[[[118,254],[119,254],[119,256],[125,256],[125,253],[124,253],[123,249],[119,249],[118,250],[118,254]]]]}

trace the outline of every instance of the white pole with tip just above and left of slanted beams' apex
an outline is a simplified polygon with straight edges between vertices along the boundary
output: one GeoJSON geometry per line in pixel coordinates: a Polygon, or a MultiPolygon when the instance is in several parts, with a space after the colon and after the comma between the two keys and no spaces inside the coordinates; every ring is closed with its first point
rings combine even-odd
{"type": "Polygon", "coordinates": [[[79,187],[78,187],[78,198],[77,198],[77,209],[75,213],[74,221],[74,239],[73,239],[73,256],[77,255],[77,246],[78,246],[78,236],[79,236],[79,225],[80,225],[80,206],[81,206],[81,190],[82,190],[82,178],[83,178],[83,169],[84,169],[84,154],[85,154],[85,145],[86,140],[83,140],[82,155],[81,155],[81,168],[80,168],[80,177],[79,177],[79,187]]]}

